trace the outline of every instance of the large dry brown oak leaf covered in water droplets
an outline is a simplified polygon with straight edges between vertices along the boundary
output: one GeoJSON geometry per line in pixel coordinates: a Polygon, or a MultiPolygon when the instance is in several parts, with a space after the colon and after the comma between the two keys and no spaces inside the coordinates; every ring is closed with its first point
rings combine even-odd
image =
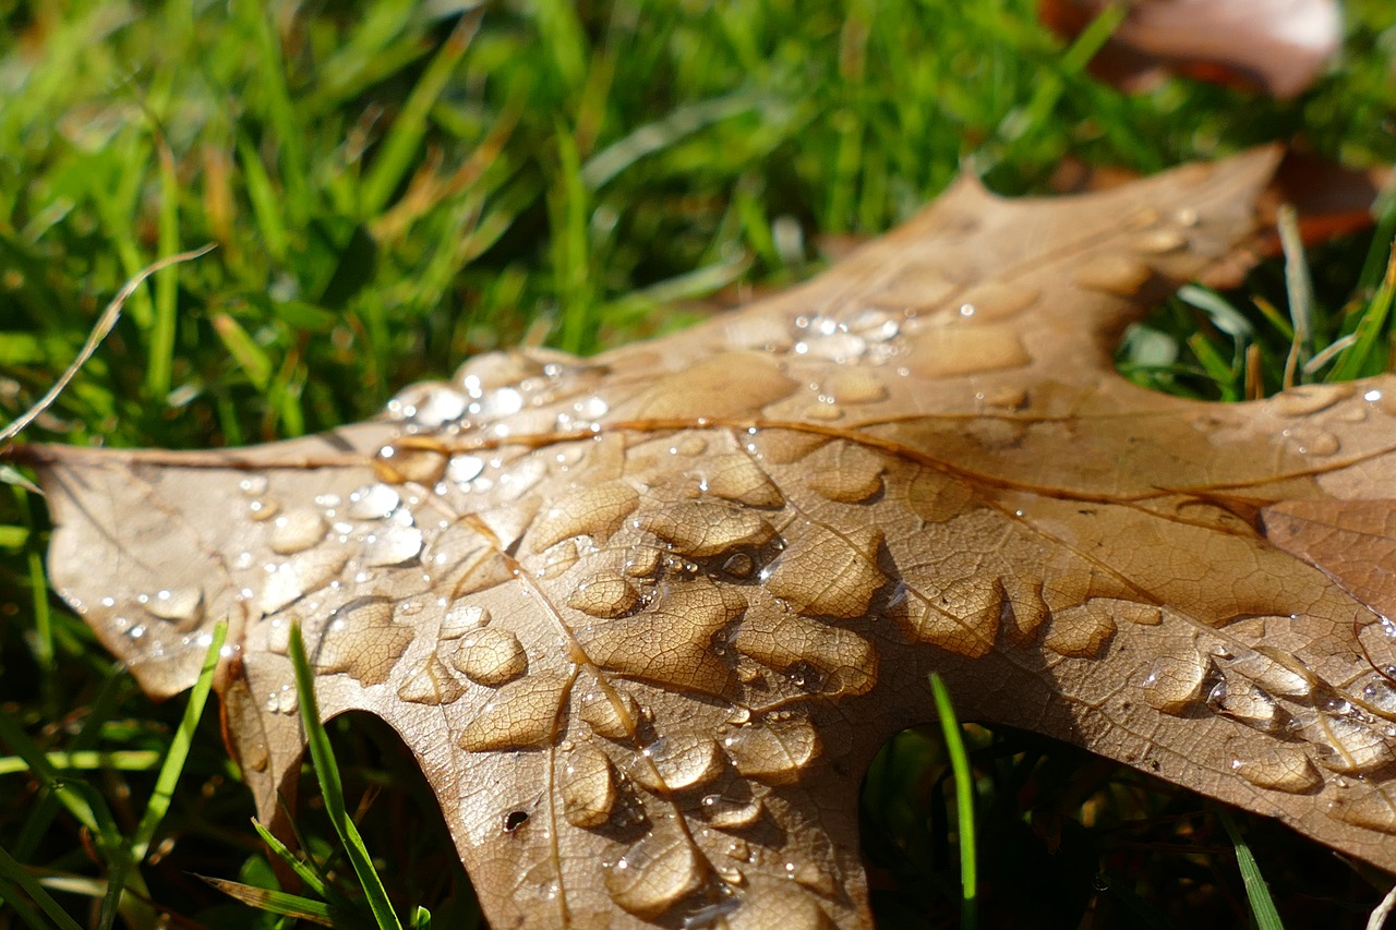
{"type": "Polygon", "coordinates": [[[870,923],[857,786],[931,714],[1396,870],[1396,381],[1220,406],[1111,367],[1276,154],[962,180],[817,281],[593,359],[473,359],[246,451],[29,450],[59,591],[152,694],[209,627],[275,821],[288,631],[402,735],[496,927],[870,923]]]}

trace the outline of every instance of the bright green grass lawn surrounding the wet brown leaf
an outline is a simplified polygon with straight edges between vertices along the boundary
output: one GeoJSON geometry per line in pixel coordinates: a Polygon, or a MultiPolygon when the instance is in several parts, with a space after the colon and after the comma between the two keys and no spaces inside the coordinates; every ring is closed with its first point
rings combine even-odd
{"type": "MultiPolygon", "coordinates": [[[[677,328],[808,276],[826,243],[906,218],[962,165],[1022,194],[1068,155],[1152,172],[1298,140],[1351,166],[1396,161],[1382,0],[1349,4],[1342,59],[1289,103],[1187,81],[1121,95],[1083,70],[1108,22],[1068,47],[1027,0],[709,6],[550,0],[477,21],[451,0],[0,0],[0,423],[77,356],[126,278],[207,242],[135,290],[27,438],[274,440],[367,416],[475,352],[677,328]]],[[[1309,257],[1305,357],[1353,338],[1297,380],[1389,367],[1389,202],[1379,221],[1309,257]]],[[[1196,397],[1273,391],[1287,313],[1275,263],[1240,293],[1160,307],[1121,367],[1196,397]]],[[[288,926],[193,877],[315,905],[279,890],[212,715],[181,721],[183,700],[152,705],[113,667],[47,591],[46,540],[42,501],[0,487],[0,927],[59,922],[50,906],[84,926],[119,906],[288,926]],[[162,762],[186,740],[172,779],[162,762]],[[151,797],[168,804],[158,824],[151,797]],[[123,874],[154,906],[119,898],[107,880],[123,874]]],[[[983,926],[1252,919],[1215,807],[1071,747],[969,730],[983,926]]],[[[366,716],[328,736],[350,817],[303,799],[318,903],[371,922],[335,829],[352,822],[399,919],[422,926],[423,906],[473,926],[396,737],[366,716]]],[[[959,915],[948,765],[916,730],[868,775],[881,926],[959,915]]],[[[1289,926],[1362,926],[1381,877],[1235,820],[1289,926]]]]}

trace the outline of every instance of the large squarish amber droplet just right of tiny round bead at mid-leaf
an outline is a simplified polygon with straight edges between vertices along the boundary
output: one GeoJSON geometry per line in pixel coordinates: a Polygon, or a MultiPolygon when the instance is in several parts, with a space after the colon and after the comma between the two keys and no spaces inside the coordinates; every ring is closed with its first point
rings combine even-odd
{"type": "Polygon", "coordinates": [[[799,613],[860,617],[886,584],[878,567],[881,545],[882,531],[874,526],[839,535],[811,525],[766,570],[766,591],[799,613]]]}

